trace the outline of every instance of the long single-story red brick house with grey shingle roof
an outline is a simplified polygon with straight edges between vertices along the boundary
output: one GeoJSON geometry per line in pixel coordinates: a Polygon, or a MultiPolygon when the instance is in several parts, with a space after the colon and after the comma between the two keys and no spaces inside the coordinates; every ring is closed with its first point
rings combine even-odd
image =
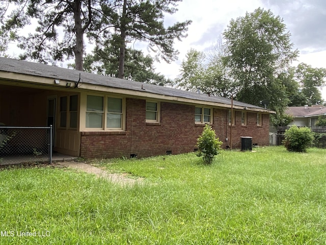
{"type": "Polygon", "coordinates": [[[209,123],[224,143],[268,145],[264,108],[203,93],[0,58],[0,122],[53,125],[54,150],[85,158],[147,157],[196,150],[209,123]]]}

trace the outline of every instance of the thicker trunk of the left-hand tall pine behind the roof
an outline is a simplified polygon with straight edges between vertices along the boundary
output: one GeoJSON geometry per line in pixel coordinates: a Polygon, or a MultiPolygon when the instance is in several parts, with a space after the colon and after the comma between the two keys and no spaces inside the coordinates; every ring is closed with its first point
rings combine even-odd
{"type": "Polygon", "coordinates": [[[73,6],[75,32],[76,32],[76,45],[74,47],[75,54],[75,69],[84,70],[83,54],[84,54],[84,31],[82,27],[82,2],[80,0],[74,1],[73,6]]]}

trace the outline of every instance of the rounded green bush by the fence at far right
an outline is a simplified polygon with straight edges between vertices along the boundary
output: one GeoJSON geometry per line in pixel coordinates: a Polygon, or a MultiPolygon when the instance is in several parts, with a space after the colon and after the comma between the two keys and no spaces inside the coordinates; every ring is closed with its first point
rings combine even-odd
{"type": "Polygon", "coordinates": [[[283,144],[290,152],[306,152],[313,141],[313,133],[310,128],[298,128],[295,125],[285,131],[283,144]]]}

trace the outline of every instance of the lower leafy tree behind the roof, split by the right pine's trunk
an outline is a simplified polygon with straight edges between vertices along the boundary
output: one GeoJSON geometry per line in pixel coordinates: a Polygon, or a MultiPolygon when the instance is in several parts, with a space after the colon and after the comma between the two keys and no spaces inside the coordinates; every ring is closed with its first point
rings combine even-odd
{"type": "MultiPolygon", "coordinates": [[[[94,48],[92,55],[85,57],[84,67],[88,72],[104,76],[118,77],[119,44],[115,38],[107,40],[102,48],[94,48]]],[[[152,83],[156,85],[172,85],[164,75],[155,73],[154,61],[150,55],[142,51],[126,48],[124,77],[128,80],[152,83]]]]}

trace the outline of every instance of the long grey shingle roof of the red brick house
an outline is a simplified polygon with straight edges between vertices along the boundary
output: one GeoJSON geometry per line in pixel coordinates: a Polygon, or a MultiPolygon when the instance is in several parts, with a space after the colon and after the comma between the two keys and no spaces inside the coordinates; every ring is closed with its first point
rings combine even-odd
{"type": "MultiPolygon", "coordinates": [[[[184,99],[190,99],[193,101],[195,100],[201,102],[219,103],[219,104],[228,105],[228,107],[230,107],[231,105],[231,99],[227,99],[225,97],[212,96],[212,95],[209,96],[208,94],[204,94],[204,93],[185,91],[176,88],[146,84],[141,82],[91,74],[88,72],[74,70],[74,69],[67,69],[67,68],[62,68],[57,66],[45,65],[45,64],[22,61],[22,60],[15,60],[15,59],[3,58],[3,57],[0,57],[0,71],[14,72],[16,74],[31,75],[31,76],[38,76],[38,77],[45,77],[45,78],[60,79],[60,80],[66,80],[71,82],[77,82],[80,76],[81,78],[80,80],[83,83],[97,85],[97,87],[98,85],[101,85],[105,87],[127,89],[132,91],[139,91],[139,92],[148,92],[151,94],[180,97],[184,99]]],[[[80,87],[80,89],[82,89],[82,87],[80,87]]],[[[270,111],[268,109],[266,110],[259,106],[254,106],[251,104],[247,104],[235,100],[233,101],[233,105],[247,108],[248,110],[253,109],[253,110],[258,110],[266,113],[275,113],[274,111],[270,111]]]]}

